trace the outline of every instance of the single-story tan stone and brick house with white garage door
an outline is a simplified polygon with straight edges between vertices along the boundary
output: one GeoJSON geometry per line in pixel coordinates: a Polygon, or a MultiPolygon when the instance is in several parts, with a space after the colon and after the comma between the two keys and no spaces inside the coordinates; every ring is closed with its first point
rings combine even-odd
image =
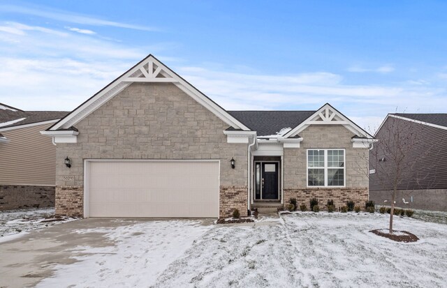
{"type": "Polygon", "coordinates": [[[217,218],[291,197],[363,206],[375,141],[329,104],[226,111],[152,55],[42,134],[57,144],[56,212],[84,217],[217,218]]]}

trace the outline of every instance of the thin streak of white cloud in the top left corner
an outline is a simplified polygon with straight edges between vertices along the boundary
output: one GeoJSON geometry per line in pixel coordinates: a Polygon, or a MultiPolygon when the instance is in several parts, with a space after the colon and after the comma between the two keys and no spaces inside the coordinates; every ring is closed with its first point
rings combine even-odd
{"type": "Polygon", "coordinates": [[[114,26],[126,29],[135,29],[142,31],[158,31],[155,27],[142,26],[135,24],[127,24],[122,22],[115,22],[110,20],[102,20],[98,17],[91,15],[78,15],[63,10],[55,10],[44,7],[22,7],[15,5],[0,5],[0,11],[3,13],[20,13],[24,15],[34,15],[52,20],[58,20],[61,22],[70,22],[76,24],[93,25],[93,26],[114,26]]]}

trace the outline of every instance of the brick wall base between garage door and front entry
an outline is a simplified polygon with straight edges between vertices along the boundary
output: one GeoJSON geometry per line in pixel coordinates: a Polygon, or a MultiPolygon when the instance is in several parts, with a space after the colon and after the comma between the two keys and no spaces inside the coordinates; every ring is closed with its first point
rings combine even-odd
{"type": "Polygon", "coordinates": [[[247,186],[221,186],[219,197],[220,217],[233,216],[235,209],[247,216],[247,186]]]}

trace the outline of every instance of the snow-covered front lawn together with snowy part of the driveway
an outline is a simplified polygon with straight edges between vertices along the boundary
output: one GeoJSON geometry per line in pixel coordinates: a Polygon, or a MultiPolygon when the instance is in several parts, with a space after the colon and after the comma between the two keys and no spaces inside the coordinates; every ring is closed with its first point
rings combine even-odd
{"type": "Polygon", "coordinates": [[[107,233],[114,245],[74,248],[78,262],[54,267],[38,287],[445,287],[447,225],[395,218],[416,243],[369,232],[387,223],[381,214],[298,212],[240,225],[83,229],[73,233],[107,233]]]}

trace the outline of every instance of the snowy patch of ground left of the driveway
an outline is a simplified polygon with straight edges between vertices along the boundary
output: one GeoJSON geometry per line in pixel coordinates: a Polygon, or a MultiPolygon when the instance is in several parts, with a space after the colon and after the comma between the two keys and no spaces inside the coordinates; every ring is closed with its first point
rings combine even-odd
{"type": "Polygon", "coordinates": [[[24,234],[34,229],[75,220],[67,217],[57,219],[59,218],[54,218],[54,208],[0,211],[0,242],[11,240],[12,234],[24,234]]]}

